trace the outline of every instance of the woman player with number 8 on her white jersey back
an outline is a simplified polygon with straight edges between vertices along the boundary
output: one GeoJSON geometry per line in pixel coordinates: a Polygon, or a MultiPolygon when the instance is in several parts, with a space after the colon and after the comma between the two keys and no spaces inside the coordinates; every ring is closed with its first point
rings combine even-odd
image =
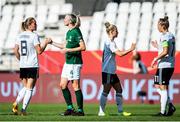
{"type": "Polygon", "coordinates": [[[31,100],[33,88],[39,77],[38,54],[41,54],[51,39],[45,39],[40,43],[39,36],[34,33],[37,28],[36,20],[27,18],[21,25],[22,31],[15,42],[14,53],[20,61],[20,78],[24,87],[18,93],[16,101],[13,103],[12,112],[18,114],[18,104],[23,99],[21,115],[26,115],[27,106],[31,100]]]}

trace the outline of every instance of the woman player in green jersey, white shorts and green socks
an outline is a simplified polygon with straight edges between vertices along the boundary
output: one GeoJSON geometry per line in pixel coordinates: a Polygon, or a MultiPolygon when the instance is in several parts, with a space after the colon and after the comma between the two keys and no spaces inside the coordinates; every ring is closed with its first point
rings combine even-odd
{"type": "Polygon", "coordinates": [[[61,114],[64,116],[84,116],[83,110],[83,94],[80,89],[80,74],[83,64],[81,51],[86,50],[86,46],[81,34],[80,18],[74,14],[68,14],[64,18],[64,25],[69,28],[66,33],[65,43],[52,42],[52,45],[62,49],[65,53],[66,62],[63,66],[60,87],[67,104],[67,110],[61,114]],[[68,89],[69,81],[75,91],[78,109],[75,111],[71,99],[71,93],[68,89]]]}

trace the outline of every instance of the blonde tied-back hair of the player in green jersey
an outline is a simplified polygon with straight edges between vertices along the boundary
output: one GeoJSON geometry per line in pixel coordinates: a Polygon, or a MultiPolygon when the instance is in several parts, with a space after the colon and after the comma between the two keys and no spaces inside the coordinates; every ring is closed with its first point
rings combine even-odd
{"type": "Polygon", "coordinates": [[[80,20],[78,15],[69,14],[69,16],[70,16],[70,23],[71,24],[74,24],[75,27],[80,27],[81,26],[81,20],[80,20]]]}

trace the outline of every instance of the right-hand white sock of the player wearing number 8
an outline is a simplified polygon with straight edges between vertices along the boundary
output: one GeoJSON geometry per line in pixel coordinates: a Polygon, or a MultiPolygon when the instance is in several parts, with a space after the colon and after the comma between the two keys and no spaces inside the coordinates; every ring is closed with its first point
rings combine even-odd
{"type": "Polygon", "coordinates": [[[26,89],[26,94],[24,96],[23,107],[22,107],[22,109],[25,110],[25,111],[26,111],[26,108],[29,105],[29,102],[31,100],[32,93],[33,93],[32,89],[26,89]]]}

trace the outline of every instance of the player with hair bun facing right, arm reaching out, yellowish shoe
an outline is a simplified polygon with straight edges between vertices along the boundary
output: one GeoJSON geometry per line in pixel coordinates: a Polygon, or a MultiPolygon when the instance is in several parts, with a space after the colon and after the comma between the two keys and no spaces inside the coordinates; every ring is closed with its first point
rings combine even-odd
{"type": "Polygon", "coordinates": [[[123,116],[130,116],[131,113],[124,112],[122,109],[122,87],[120,80],[116,72],[116,61],[115,55],[120,57],[127,55],[135,49],[135,44],[132,44],[131,48],[125,51],[120,51],[114,39],[118,36],[117,27],[109,22],[105,23],[106,31],[109,39],[105,41],[102,59],[102,84],[103,92],[100,98],[100,107],[98,116],[105,116],[105,106],[107,101],[107,96],[111,87],[116,91],[116,104],[118,107],[118,114],[123,116]]]}

